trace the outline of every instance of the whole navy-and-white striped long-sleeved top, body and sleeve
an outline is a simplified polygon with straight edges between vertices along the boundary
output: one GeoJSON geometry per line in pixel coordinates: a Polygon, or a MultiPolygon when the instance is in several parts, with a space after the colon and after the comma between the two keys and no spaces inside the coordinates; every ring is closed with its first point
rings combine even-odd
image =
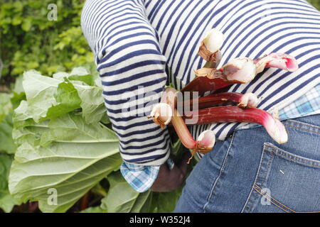
{"type": "MultiPolygon", "coordinates": [[[[169,134],[148,116],[166,84],[181,89],[204,65],[197,55],[210,28],[225,34],[220,65],[270,52],[297,58],[299,70],[267,69],[230,92],[262,96],[260,109],[283,109],[320,82],[320,13],[304,0],[87,0],[82,29],[95,53],[103,97],[123,160],[161,165],[169,134]]],[[[191,127],[197,138],[211,129],[223,140],[245,123],[191,127]]]]}

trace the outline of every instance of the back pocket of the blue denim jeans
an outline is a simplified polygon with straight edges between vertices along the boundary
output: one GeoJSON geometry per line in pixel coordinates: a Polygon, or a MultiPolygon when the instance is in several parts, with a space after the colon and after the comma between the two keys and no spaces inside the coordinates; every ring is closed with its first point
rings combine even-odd
{"type": "Polygon", "coordinates": [[[255,183],[242,212],[319,212],[320,161],[263,146],[255,183]]]}

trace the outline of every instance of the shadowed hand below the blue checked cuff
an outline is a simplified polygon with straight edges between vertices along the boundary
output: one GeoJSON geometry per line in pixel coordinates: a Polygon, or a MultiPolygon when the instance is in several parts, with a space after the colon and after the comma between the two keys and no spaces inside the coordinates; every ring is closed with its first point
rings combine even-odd
{"type": "Polygon", "coordinates": [[[186,152],[179,165],[174,165],[172,170],[169,169],[166,162],[160,166],[158,177],[150,188],[153,192],[171,192],[182,186],[188,168],[188,159],[191,153],[186,152]]]}

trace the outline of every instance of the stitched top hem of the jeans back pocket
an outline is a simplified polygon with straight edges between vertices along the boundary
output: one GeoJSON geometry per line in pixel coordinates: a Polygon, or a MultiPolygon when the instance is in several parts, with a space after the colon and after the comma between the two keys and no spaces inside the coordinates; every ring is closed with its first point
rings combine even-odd
{"type": "Polygon", "coordinates": [[[277,148],[276,146],[274,146],[274,145],[272,145],[270,143],[267,143],[265,146],[267,147],[267,149],[266,149],[267,151],[270,151],[271,153],[274,153],[275,155],[277,155],[279,157],[282,157],[285,160],[289,160],[289,161],[292,161],[292,162],[295,162],[295,163],[299,163],[301,165],[306,165],[306,166],[309,166],[309,167],[316,167],[316,168],[320,167],[320,162],[317,161],[317,160],[311,160],[311,159],[308,159],[306,157],[302,157],[302,156],[299,156],[299,155],[293,155],[291,153],[288,153],[285,150],[277,148]],[[277,150],[279,152],[277,152],[277,150]],[[310,162],[310,163],[308,163],[308,162],[310,162]]]}

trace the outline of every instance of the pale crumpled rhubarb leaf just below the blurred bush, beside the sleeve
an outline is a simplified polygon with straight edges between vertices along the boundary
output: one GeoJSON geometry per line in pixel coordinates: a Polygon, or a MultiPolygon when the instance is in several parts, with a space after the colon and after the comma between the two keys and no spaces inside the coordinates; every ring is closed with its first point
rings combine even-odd
{"type": "Polygon", "coordinates": [[[84,68],[78,68],[72,74],[56,73],[53,77],[44,77],[34,70],[25,72],[23,89],[28,115],[39,122],[82,108],[82,116],[87,123],[100,121],[107,113],[102,89],[85,84],[83,81],[89,77],[93,79],[84,68]]]}

